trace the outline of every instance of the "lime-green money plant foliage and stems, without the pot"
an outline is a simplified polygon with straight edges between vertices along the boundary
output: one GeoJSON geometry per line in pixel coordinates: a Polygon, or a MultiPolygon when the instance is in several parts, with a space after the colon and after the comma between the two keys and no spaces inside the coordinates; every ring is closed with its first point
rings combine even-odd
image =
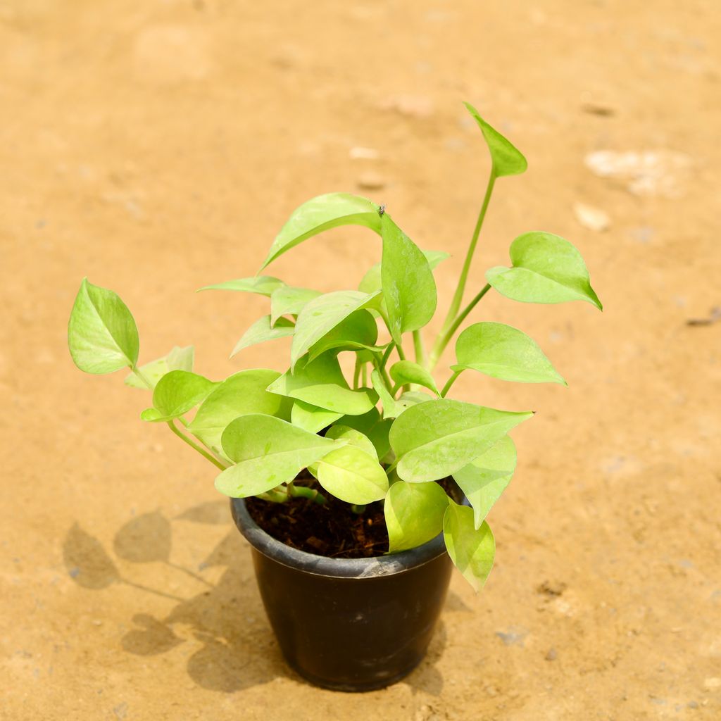
{"type": "Polygon", "coordinates": [[[459,333],[461,326],[492,291],[522,303],[587,301],[601,309],[601,301],[578,250],[557,235],[531,231],[510,244],[510,265],[487,270],[485,285],[474,288],[464,304],[495,183],[526,170],[516,147],[466,107],[490,150],[490,177],[456,291],[428,351],[422,330],[436,310],[433,272],[448,254],[420,249],[384,205],[348,193],[319,195],[293,211],[259,273],[323,231],[365,226],[381,241],[381,260],[356,290],[319,293],[270,275],[202,289],[267,296],[270,313],[247,329],[231,355],[287,336],[285,372],[253,368],[212,381],[193,370],[192,347],[173,348],[138,366],[131,312],[118,295],[87,279],[72,309],[68,345],[76,366],[87,373],[129,368],[125,382],[152,392],[141,418],[166,424],[216,466],[221,493],[267,503],[294,497],[326,503],[331,494],[354,513],[382,500],[389,553],[443,532],[451,559],[478,590],[495,554],[486,516],[516,466],[508,433],[533,413],[496,410],[449,394],[466,371],[518,383],[565,381],[521,330],[481,321],[459,333]],[[434,371],[454,339],[454,362],[437,382],[434,371]],[[298,482],[304,469],[315,479],[310,485],[298,482]],[[449,477],[469,505],[438,483],[449,477]]]}

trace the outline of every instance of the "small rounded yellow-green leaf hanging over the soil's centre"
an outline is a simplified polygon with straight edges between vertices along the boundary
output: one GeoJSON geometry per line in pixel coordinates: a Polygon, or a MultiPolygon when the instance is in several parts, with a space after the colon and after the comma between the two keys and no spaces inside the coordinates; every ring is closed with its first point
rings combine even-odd
{"type": "MultiPolygon", "coordinates": [[[[373,448],[373,454],[375,452],[373,448]]],[[[383,466],[353,443],[322,458],[318,464],[318,482],[336,498],[358,505],[381,500],[388,492],[388,477],[383,466]]]]}

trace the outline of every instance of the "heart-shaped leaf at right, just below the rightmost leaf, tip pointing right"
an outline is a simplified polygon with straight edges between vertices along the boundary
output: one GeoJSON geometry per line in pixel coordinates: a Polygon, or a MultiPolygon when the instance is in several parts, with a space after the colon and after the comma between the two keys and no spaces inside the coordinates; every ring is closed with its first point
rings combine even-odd
{"type": "Polygon", "coordinates": [[[503,323],[475,323],[456,341],[458,365],[502,381],[568,384],[551,365],[536,342],[520,330],[503,323]]]}

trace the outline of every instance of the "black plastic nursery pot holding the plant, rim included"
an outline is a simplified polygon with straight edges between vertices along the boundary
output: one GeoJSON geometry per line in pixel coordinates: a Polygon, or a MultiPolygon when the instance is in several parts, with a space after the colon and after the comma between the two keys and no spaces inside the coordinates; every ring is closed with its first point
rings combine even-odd
{"type": "Polygon", "coordinates": [[[423,659],[451,576],[443,536],[392,556],[333,559],[277,541],[231,499],[288,665],[317,686],[371,691],[423,659]]]}

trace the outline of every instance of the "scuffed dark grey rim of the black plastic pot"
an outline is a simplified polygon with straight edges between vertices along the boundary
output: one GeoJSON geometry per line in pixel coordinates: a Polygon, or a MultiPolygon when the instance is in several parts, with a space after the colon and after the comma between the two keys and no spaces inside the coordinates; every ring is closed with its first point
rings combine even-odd
{"type": "Polygon", "coordinates": [[[296,570],[330,578],[376,578],[410,571],[446,553],[443,533],[422,546],[387,556],[330,558],[291,548],[263,531],[250,517],[244,498],[230,499],[231,514],[238,530],[259,553],[296,570]]]}

